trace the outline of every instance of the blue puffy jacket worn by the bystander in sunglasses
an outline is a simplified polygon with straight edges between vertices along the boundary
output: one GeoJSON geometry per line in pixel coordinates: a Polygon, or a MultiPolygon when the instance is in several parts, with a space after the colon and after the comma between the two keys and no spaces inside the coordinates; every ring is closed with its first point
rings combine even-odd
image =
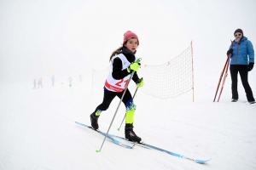
{"type": "Polygon", "coordinates": [[[254,63],[253,43],[247,37],[242,37],[240,42],[235,40],[230,45],[234,51],[231,54],[230,65],[248,65],[254,63]]]}

